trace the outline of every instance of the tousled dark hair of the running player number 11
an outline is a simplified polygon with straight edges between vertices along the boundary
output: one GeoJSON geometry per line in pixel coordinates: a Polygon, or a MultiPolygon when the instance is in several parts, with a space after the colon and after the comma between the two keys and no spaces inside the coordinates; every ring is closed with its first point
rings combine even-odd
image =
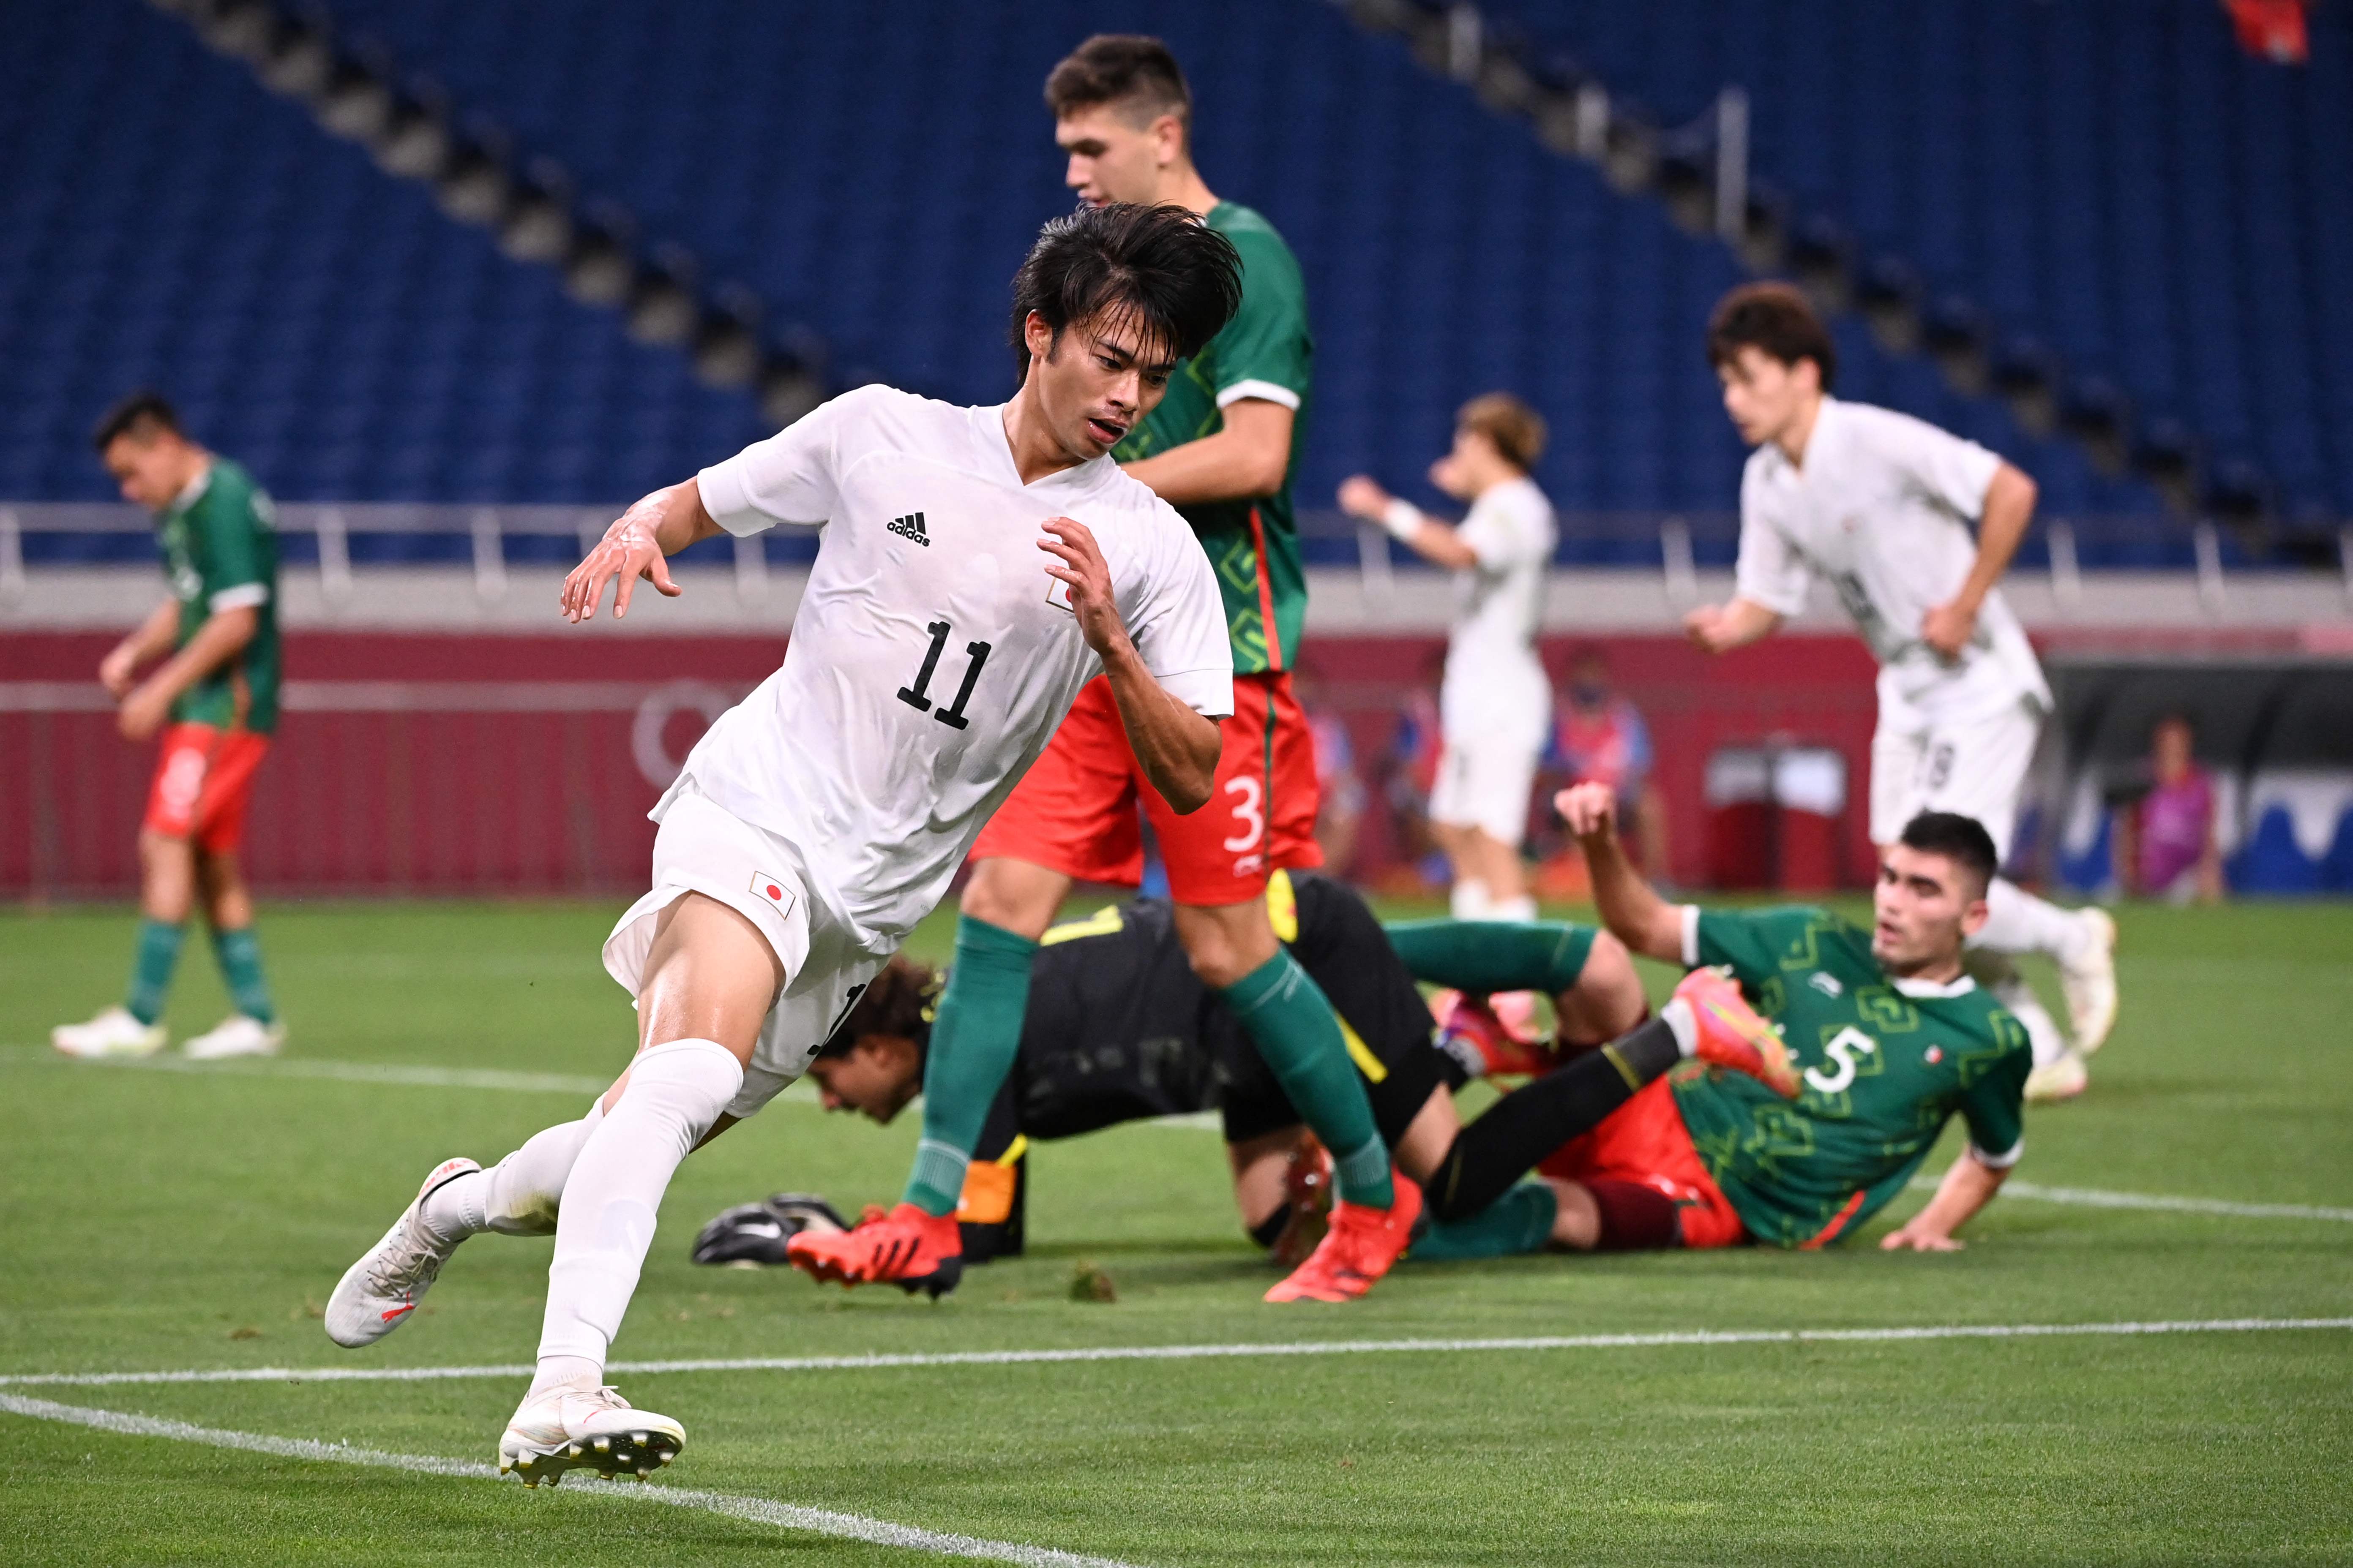
{"type": "Polygon", "coordinates": [[[1242,259],[1233,240],[1184,207],[1080,207],[1040,228],[1014,273],[1014,369],[1028,376],[1024,327],[1033,310],[1054,329],[1054,348],[1073,322],[1132,320],[1146,339],[1191,360],[1240,306],[1242,259]]]}

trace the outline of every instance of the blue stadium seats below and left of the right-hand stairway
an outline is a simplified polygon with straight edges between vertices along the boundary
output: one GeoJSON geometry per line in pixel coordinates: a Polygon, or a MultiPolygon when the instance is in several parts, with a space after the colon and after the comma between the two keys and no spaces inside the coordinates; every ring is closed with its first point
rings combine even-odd
{"type": "MultiPolygon", "coordinates": [[[[104,26],[14,9],[24,47],[0,71],[19,78],[7,146],[28,176],[0,195],[0,310],[71,386],[0,402],[0,494],[104,494],[80,425],[132,381],[179,390],[287,498],[619,498],[760,428],[748,393],[699,386],[682,355],[501,259],[186,24],[134,0],[94,7],[104,26]],[[134,277],[132,259],[158,252],[186,261],[134,277]]],[[[1734,259],[1339,9],[927,0],[779,24],[744,0],[692,16],[647,0],[339,0],[332,21],[487,139],[680,242],[708,287],[755,296],[779,331],[814,327],[835,383],[965,400],[1002,393],[1002,273],[1064,202],[1035,103],[1045,63],[1096,26],[1160,28],[1198,78],[1205,167],[1278,216],[1308,273],[1311,503],[1344,473],[1435,449],[1461,397],[1518,386],[1555,428],[1546,487],[1593,515],[1565,559],[1654,562],[1654,527],[1612,527],[1624,512],[1692,512],[1701,564],[1729,552],[1739,447],[1697,329],[1734,259]],[[1285,47],[1280,80],[1278,33],[1315,45],[1285,47]]],[[[1845,390],[2019,458],[2049,512],[2155,510],[2146,487],[2104,480],[1859,324],[1842,355],[1845,390]]],[[[2085,536],[2085,564],[2108,559],[2106,538],[2085,536]]],[[[2188,536],[2132,527],[2113,550],[2186,562],[2188,536]]]]}

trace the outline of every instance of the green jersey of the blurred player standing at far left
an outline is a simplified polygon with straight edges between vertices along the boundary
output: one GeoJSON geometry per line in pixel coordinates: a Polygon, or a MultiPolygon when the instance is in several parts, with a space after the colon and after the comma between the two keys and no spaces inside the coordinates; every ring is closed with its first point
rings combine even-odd
{"type": "Polygon", "coordinates": [[[155,517],[162,569],[179,599],[179,646],[216,611],[252,607],[254,637],[172,703],[181,724],[278,729],[278,531],[252,475],[212,458],[205,477],[155,517]]]}

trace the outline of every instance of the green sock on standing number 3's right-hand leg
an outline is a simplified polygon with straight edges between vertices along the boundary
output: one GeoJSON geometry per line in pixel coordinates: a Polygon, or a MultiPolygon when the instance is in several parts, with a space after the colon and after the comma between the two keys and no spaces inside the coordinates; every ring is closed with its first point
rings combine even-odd
{"type": "Polygon", "coordinates": [[[1322,1145],[1332,1150],[1339,1194],[1367,1208],[1398,1201],[1388,1178],[1388,1147],[1372,1121],[1365,1081],[1348,1060],[1348,1041],[1339,1032],[1339,1013],[1322,987],[1299,969],[1289,950],[1278,947],[1247,976],[1219,992],[1233,1016],[1249,1030],[1259,1056],[1273,1070],[1292,1107],[1306,1119],[1322,1145]]]}

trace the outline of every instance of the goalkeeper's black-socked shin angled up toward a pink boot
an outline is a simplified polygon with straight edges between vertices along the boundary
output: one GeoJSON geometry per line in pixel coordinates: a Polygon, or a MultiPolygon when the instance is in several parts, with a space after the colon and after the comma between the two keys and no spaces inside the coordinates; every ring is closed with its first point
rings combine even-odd
{"type": "Polygon", "coordinates": [[[1689,1006],[1668,1001],[1649,1023],[1497,1100],[1454,1135],[1421,1185],[1431,1218],[1459,1225],[1478,1215],[1546,1154],[1666,1077],[1694,1041],[1689,1006]]]}

